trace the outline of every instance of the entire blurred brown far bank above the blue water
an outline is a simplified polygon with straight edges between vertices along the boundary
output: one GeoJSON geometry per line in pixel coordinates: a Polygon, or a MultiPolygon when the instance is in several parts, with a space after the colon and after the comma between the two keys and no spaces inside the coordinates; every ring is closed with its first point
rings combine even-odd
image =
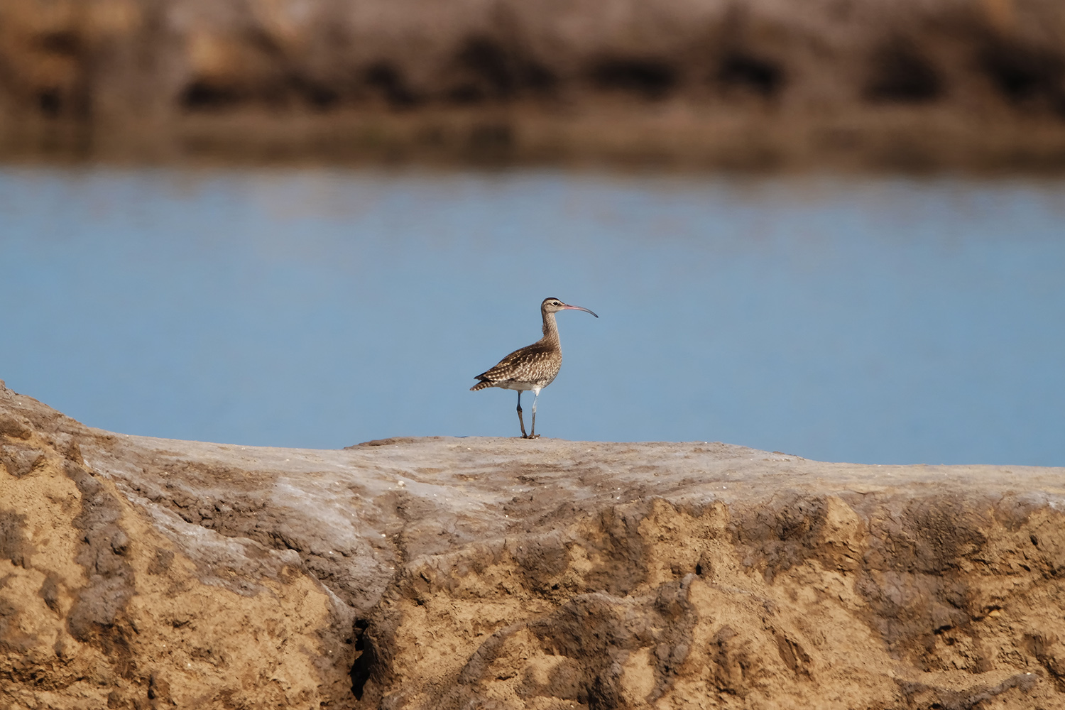
{"type": "Polygon", "coordinates": [[[1065,167],[1063,0],[3,0],[0,156],[1065,167]]]}

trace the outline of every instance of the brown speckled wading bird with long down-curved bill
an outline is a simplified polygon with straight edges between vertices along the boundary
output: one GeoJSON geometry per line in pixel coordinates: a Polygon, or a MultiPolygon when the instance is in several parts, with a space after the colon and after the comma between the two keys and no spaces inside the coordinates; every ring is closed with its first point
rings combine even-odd
{"type": "MultiPolygon", "coordinates": [[[[536,400],[540,397],[540,391],[551,384],[558,370],[562,367],[562,346],[558,342],[558,324],[555,323],[555,314],[559,311],[585,311],[592,313],[579,306],[568,306],[557,298],[545,298],[540,303],[540,314],[543,316],[543,337],[527,345],[520,350],[514,350],[499,361],[492,369],[477,376],[480,380],[470,387],[471,392],[484,390],[485,387],[503,387],[504,390],[518,390],[518,424],[522,427],[522,439],[536,439],[536,400]],[[522,419],[522,393],[531,390],[536,394],[532,396],[532,428],[530,433],[525,433],[525,420],[522,419]]],[[[592,313],[592,315],[595,315],[592,313]]],[[[597,318],[599,316],[595,315],[597,318]]]]}

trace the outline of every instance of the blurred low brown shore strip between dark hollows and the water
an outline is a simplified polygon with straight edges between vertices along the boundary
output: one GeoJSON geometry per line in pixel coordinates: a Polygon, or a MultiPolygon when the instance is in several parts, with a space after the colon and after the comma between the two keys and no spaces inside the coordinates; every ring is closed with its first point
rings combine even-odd
{"type": "Polygon", "coordinates": [[[240,111],[112,130],[18,127],[4,162],[610,165],[667,169],[1065,171],[1065,127],[951,112],[822,118],[701,113],[684,104],[278,115],[240,111]]]}

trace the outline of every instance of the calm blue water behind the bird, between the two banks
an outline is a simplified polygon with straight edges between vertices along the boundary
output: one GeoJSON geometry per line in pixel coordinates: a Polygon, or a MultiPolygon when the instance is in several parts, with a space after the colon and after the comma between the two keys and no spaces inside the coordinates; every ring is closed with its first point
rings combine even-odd
{"type": "Polygon", "coordinates": [[[0,269],[0,379],[114,431],[513,435],[557,296],[545,436],[1065,465],[1065,180],[9,166],[0,269]]]}

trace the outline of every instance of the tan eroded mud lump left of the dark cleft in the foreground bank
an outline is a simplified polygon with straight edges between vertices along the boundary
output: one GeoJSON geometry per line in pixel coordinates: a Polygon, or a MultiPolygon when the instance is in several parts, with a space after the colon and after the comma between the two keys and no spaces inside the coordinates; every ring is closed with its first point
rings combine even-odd
{"type": "Polygon", "coordinates": [[[0,707],[349,694],[351,614],[295,552],[157,519],[85,464],[88,430],[0,398],[0,707]]]}

